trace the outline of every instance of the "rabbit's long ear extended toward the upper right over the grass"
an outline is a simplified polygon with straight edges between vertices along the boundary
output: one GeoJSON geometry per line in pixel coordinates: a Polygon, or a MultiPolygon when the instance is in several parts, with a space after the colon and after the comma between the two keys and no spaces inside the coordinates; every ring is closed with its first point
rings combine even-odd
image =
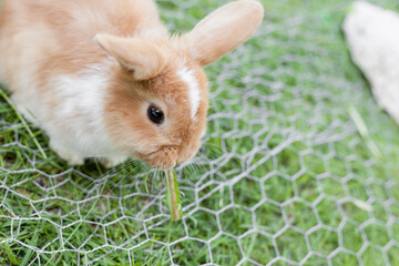
{"type": "Polygon", "coordinates": [[[253,0],[227,3],[183,35],[180,44],[202,65],[209,64],[245,42],[263,20],[264,9],[253,0]]]}

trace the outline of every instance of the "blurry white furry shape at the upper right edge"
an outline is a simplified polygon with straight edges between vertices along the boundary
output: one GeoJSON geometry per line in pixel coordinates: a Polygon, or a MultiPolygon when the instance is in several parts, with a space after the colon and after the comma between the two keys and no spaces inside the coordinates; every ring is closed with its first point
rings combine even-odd
{"type": "Polygon", "coordinates": [[[344,22],[352,60],[378,103],[399,123],[399,14],[359,1],[344,22]]]}

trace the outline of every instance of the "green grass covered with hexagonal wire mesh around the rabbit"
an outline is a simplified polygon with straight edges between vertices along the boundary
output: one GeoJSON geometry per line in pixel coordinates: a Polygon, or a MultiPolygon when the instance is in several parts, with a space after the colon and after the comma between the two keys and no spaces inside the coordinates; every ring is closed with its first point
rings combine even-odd
{"type": "MultiPolygon", "coordinates": [[[[224,2],[158,6],[183,32],[224,2]]],[[[351,1],[262,2],[257,35],[206,68],[206,160],[177,171],[181,222],[162,174],[71,168],[0,99],[0,265],[399,264],[399,129],[350,61],[351,1]]]]}

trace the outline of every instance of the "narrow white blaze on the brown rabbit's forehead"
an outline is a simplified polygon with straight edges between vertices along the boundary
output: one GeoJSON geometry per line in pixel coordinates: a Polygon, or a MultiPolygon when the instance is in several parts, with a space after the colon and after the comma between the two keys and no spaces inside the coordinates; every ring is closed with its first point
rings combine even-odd
{"type": "Polygon", "coordinates": [[[177,71],[177,75],[188,85],[188,100],[191,106],[191,119],[195,119],[201,102],[201,91],[197,80],[195,79],[194,71],[188,70],[187,66],[177,71]]]}

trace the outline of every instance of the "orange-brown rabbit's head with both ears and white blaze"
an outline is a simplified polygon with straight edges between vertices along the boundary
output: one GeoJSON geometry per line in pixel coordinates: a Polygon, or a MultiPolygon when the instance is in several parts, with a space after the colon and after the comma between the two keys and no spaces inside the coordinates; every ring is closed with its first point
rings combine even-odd
{"type": "Polygon", "coordinates": [[[256,1],[228,3],[170,40],[98,34],[115,59],[104,121],[119,149],[157,168],[193,157],[208,109],[203,66],[246,41],[260,24],[256,1]]]}

